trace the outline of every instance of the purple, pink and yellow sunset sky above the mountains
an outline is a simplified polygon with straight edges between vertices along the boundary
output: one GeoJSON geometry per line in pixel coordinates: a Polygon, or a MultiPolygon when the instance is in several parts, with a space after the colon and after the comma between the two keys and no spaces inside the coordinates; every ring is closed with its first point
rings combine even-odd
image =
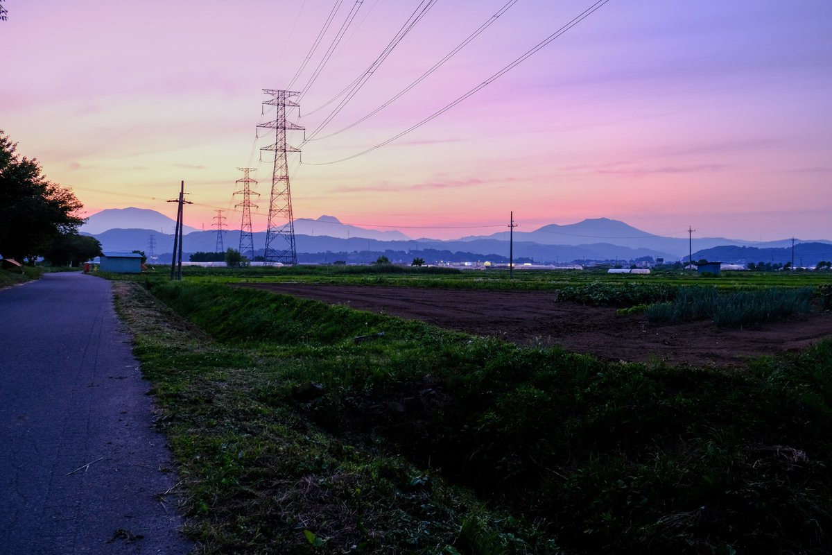
{"type": "Polygon", "coordinates": [[[260,148],[275,141],[256,135],[275,118],[263,89],[291,90],[287,119],[313,139],[289,134],[295,218],[441,239],[505,230],[510,212],[522,231],[607,217],[657,235],[832,239],[832,2],[609,0],[491,79],[594,4],[4,0],[0,130],[86,216],[176,217],[166,201],[185,181],[187,225],[223,210],[239,229],[237,168],[254,168],[256,231],[273,165],[260,148]]]}

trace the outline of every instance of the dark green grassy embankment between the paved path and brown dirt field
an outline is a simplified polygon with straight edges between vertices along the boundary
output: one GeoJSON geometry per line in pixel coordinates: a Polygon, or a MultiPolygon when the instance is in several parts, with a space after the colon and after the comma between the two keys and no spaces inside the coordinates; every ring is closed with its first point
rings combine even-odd
{"type": "Polygon", "coordinates": [[[208,553],[832,548],[830,341],[723,373],[121,287],[208,553]]]}

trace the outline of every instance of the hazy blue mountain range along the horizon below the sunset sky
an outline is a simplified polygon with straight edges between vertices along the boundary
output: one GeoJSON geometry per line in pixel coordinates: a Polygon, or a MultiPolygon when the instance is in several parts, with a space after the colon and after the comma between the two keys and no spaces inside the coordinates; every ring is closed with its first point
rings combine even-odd
{"type": "MultiPolygon", "coordinates": [[[[104,250],[149,250],[152,241],[154,254],[161,261],[170,260],[173,250],[173,229],[176,222],[156,211],[126,208],[106,210],[90,217],[82,232],[94,235],[102,242],[104,250]],[[151,222],[126,228],[136,221],[151,222]],[[116,221],[113,228],[101,230],[106,222],[116,221]],[[128,224],[129,222],[129,224],[128,224]],[[95,232],[91,230],[97,230],[95,232]],[[152,237],[152,240],[151,240],[152,237]]],[[[213,252],[216,247],[216,231],[195,230],[186,226],[183,238],[186,253],[213,252]]],[[[223,234],[223,247],[240,245],[240,230],[228,230],[223,234]]],[[[255,255],[262,254],[265,232],[253,234],[255,255]],[[259,251],[259,252],[258,252],[259,251]]],[[[468,236],[458,240],[410,239],[399,231],[367,230],[356,225],[341,223],[334,216],[320,216],[316,220],[295,220],[295,244],[299,260],[332,262],[334,260],[369,261],[379,254],[398,256],[409,262],[421,257],[437,260],[498,260],[508,257],[508,231],[493,235],[468,236]],[[428,254],[430,253],[430,254],[428,254]]],[[[791,240],[754,242],[721,237],[694,238],[694,260],[720,260],[744,264],[745,262],[791,260],[791,240]]],[[[667,261],[686,259],[687,238],[664,237],[638,230],[622,221],[597,218],[569,225],[544,225],[534,231],[514,233],[516,259],[535,262],[567,263],[572,260],[636,260],[644,257],[663,258],[667,261]]],[[[832,258],[832,241],[797,242],[795,265],[814,265],[818,260],[832,258]],[[827,253],[828,251],[828,253],[827,253]]],[[[397,259],[397,260],[399,260],[397,259]]]]}

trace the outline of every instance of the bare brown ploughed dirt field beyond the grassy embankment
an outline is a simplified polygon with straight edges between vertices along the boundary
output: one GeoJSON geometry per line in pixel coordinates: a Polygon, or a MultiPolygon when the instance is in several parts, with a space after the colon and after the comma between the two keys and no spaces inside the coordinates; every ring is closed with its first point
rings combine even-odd
{"type": "Polygon", "coordinates": [[[561,345],[604,359],[732,366],[762,354],[805,349],[832,336],[832,312],[753,329],[720,330],[710,322],[651,325],[641,315],[556,302],[548,291],[438,290],[362,285],[247,285],[423,320],[448,330],[492,335],[518,344],[561,345]]]}

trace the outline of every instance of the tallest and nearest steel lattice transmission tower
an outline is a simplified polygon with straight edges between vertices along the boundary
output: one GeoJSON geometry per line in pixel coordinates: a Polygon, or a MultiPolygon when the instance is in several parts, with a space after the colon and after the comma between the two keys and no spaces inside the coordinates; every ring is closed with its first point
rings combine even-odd
{"type": "Polygon", "coordinates": [[[275,152],[275,166],[271,174],[269,221],[265,228],[265,251],[263,255],[266,264],[282,262],[296,265],[298,255],[295,250],[295,220],[292,217],[288,155],[290,152],[300,152],[300,150],[286,143],[286,132],[302,131],[304,128],[286,121],[286,108],[300,106],[292,100],[300,95],[300,92],[275,91],[272,89],[263,89],[263,92],[271,96],[263,104],[274,106],[276,109],[275,121],[258,125],[258,127],[275,130],[275,144],[260,149],[261,151],[275,152]]]}

